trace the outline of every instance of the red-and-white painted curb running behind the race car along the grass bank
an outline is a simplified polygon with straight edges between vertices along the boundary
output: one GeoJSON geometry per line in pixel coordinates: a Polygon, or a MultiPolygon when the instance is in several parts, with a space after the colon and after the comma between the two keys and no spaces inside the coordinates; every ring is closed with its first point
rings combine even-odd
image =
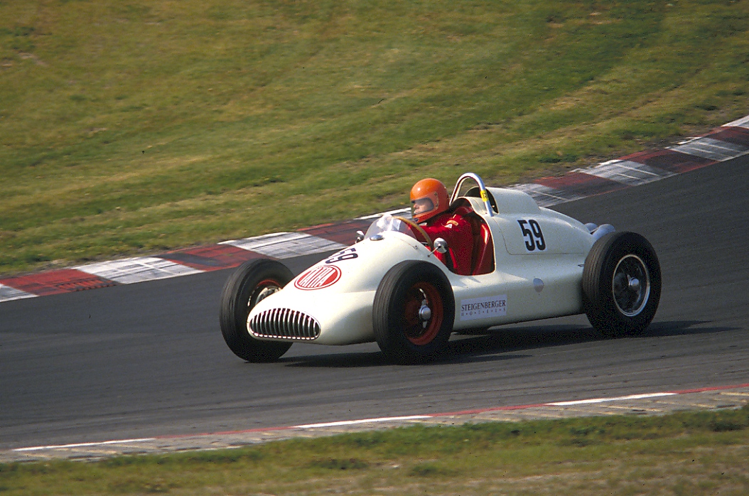
{"type": "MultiPolygon", "coordinates": [[[[530,194],[541,207],[551,207],[625,187],[647,184],[749,154],[749,115],[715,128],[704,136],[685,139],[661,150],[640,151],[560,177],[540,178],[511,189],[530,194]]],[[[131,284],[154,279],[237,267],[252,258],[283,260],[333,252],[353,243],[356,232],[383,214],[408,215],[408,208],[321,224],[297,232],[223,241],[206,247],[178,249],[162,255],[80,265],[28,276],[0,279],[0,302],[70,291],[131,284]]]]}

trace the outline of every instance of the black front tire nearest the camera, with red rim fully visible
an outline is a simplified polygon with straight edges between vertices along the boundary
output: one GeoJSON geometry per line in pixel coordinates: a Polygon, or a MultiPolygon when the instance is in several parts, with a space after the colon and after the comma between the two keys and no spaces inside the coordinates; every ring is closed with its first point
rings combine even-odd
{"type": "Polygon", "coordinates": [[[372,326],[392,363],[425,363],[446,348],[455,321],[455,297],[445,274],[426,261],[401,261],[380,281],[372,326]],[[426,301],[426,305],[423,303],[426,301]],[[428,318],[424,306],[428,307],[428,318]]]}

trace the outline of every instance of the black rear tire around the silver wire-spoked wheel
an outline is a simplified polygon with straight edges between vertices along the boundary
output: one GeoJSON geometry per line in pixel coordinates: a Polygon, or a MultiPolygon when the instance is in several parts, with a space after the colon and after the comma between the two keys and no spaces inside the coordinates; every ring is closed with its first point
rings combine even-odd
{"type": "Polygon", "coordinates": [[[643,333],[661,299],[661,265],[655,249],[634,232],[611,232],[596,241],[583,269],[583,307],[607,337],[643,333]]]}

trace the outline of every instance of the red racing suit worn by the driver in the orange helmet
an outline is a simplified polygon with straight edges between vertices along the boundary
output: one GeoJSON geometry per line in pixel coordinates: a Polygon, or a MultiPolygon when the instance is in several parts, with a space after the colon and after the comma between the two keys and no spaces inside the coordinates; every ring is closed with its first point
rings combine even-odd
{"type": "Polygon", "coordinates": [[[464,217],[466,214],[470,214],[469,208],[458,207],[455,211],[432,217],[422,225],[432,242],[437,238],[447,241],[447,252],[434,252],[434,256],[462,276],[470,275],[473,257],[473,229],[464,217]]]}

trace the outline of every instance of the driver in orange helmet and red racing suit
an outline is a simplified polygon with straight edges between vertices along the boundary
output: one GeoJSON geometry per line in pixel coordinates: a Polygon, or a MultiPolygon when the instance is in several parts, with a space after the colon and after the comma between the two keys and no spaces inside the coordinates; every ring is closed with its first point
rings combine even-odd
{"type": "MultiPolygon", "coordinates": [[[[444,238],[447,252],[434,252],[452,272],[470,275],[473,253],[473,231],[465,216],[467,207],[449,211],[449,197],[445,185],[437,179],[422,179],[411,188],[411,217],[434,241],[444,238]]],[[[416,234],[418,236],[418,234],[416,234]]]]}

